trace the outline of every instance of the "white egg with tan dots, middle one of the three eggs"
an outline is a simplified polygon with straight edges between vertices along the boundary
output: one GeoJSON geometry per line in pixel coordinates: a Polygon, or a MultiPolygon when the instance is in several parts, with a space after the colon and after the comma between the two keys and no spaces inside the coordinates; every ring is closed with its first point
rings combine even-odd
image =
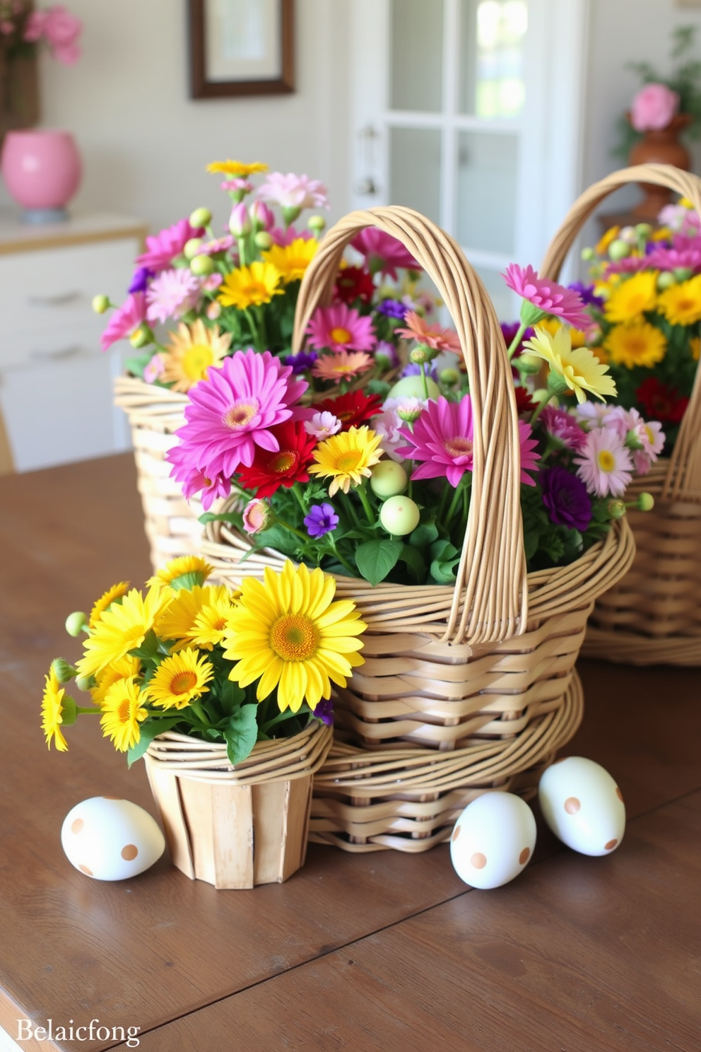
{"type": "Polygon", "coordinates": [[[450,857],[473,888],[500,888],[521,872],[536,844],[529,805],[510,792],[487,792],[468,804],[455,823],[450,857]]]}

